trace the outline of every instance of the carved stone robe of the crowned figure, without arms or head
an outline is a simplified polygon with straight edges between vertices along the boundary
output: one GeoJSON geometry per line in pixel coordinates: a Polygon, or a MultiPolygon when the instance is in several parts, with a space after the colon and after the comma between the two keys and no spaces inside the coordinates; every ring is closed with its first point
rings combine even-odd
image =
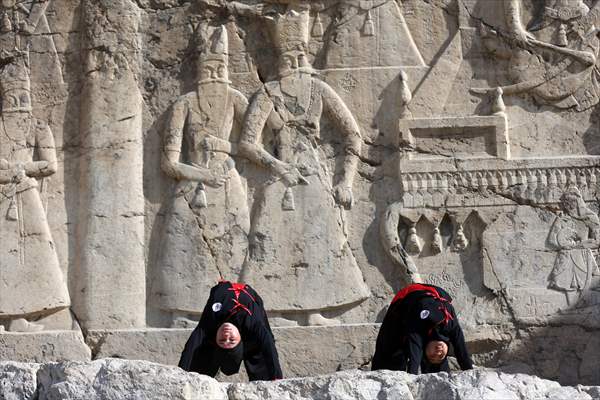
{"type": "Polygon", "coordinates": [[[332,176],[318,146],[325,86],[310,78],[305,87],[310,88],[307,98],[299,96],[293,104],[278,83],[267,86],[276,110],[292,110],[277,137],[279,157],[308,181],[286,190],[276,180],[255,199],[242,280],[263,295],[265,307],[272,311],[329,309],[370,294],[348,244],[344,211],[334,200],[332,176]]]}

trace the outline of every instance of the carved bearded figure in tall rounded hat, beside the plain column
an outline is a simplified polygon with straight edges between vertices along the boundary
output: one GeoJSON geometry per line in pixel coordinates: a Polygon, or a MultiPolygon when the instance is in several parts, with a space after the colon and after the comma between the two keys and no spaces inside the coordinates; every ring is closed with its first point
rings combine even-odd
{"type": "Polygon", "coordinates": [[[237,280],[248,247],[246,191],[230,156],[237,146],[229,141],[248,102],[230,86],[227,43],[224,27],[212,32],[197,89],[172,105],[164,135],[162,169],[177,184],[152,291],[175,326],[202,312],[215,282],[237,280]]]}

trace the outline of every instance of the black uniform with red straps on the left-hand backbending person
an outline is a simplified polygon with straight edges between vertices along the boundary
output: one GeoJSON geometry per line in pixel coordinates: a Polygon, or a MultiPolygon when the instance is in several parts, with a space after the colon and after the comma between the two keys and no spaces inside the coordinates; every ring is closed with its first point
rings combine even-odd
{"type": "Polygon", "coordinates": [[[212,377],[219,369],[232,375],[239,371],[242,359],[251,381],[282,378],[262,299],[248,285],[219,282],[211,289],[200,322],[185,344],[179,367],[212,377]],[[235,325],[242,338],[231,350],[216,343],[217,330],[225,322],[235,325]]]}

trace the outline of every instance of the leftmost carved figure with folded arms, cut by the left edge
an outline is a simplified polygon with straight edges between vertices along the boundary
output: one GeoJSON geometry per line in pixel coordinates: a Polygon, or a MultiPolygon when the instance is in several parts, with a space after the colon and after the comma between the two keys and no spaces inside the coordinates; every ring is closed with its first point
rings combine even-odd
{"type": "Polygon", "coordinates": [[[32,116],[28,74],[0,69],[0,323],[10,331],[42,330],[34,321],[70,304],[37,180],[56,172],[54,139],[32,116]]]}

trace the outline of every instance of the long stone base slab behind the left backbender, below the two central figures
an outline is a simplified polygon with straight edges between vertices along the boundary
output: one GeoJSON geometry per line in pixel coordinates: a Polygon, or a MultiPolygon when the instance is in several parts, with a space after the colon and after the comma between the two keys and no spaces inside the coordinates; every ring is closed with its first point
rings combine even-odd
{"type": "MultiPolygon", "coordinates": [[[[375,350],[378,324],[273,328],[285,376],[312,376],[366,366],[375,350]],[[310,344],[310,345],[307,345],[310,344]]],[[[191,329],[90,331],[94,359],[106,357],[177,365],[191,329]]]]}

